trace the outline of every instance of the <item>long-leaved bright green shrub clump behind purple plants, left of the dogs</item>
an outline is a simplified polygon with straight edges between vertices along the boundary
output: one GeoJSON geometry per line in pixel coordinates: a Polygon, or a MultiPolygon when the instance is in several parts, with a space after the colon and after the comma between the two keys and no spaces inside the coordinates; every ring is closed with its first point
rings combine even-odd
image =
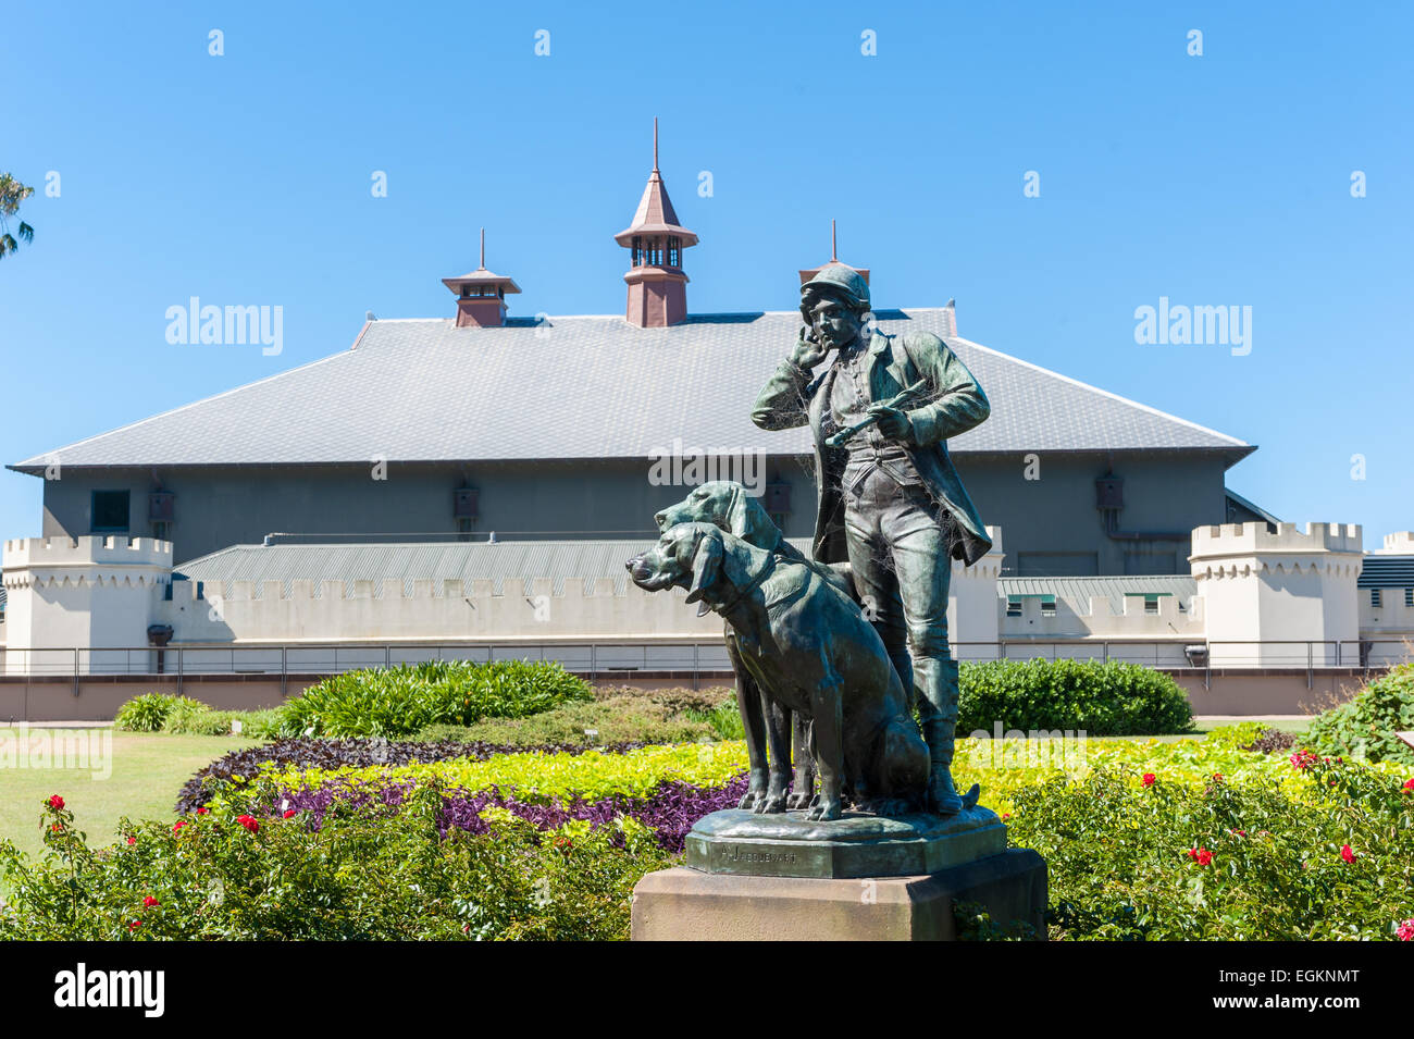
{"type": "Polygon", "coordinates": [[[553,662],[403,664],[346,671],[311,686],[279,708],[279,731],[287,736],[406,736],[438,722],[523,718],[591,697],[587,681],[553,662]]]}

